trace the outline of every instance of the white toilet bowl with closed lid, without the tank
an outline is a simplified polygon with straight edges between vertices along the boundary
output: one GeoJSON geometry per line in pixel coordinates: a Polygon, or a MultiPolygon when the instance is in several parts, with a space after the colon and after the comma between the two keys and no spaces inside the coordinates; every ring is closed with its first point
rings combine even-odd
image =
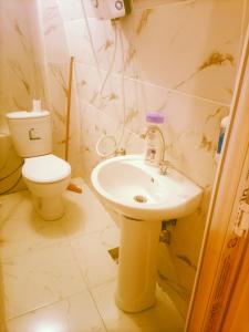
{"type": "Polygon", "coordinates": [[[37,212],[44,220],[61,218],[64,214],[62,194],[71,177],[70,164],[52,154],[25,158],[22,177],[37,212]]]}

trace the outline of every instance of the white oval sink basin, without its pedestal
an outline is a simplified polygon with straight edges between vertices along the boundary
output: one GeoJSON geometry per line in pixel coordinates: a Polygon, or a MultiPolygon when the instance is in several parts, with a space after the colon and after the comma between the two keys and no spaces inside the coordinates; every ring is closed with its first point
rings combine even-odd
{"type": "Polygon", "coordinates": [[[92,172],[92,183],[104,200],[123,216],[162,221],[190,215],[198,207],[201,188],[179,172],[148,166],[141,155],[113,157],[92,172]]]}

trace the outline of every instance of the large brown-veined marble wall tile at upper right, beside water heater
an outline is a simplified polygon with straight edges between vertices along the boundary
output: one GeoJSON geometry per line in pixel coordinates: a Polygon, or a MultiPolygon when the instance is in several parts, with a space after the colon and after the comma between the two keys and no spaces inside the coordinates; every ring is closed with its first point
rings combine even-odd
{"type": "Polygon", "coordinates": [[[229,103],[241,18],[242,1],[180,2],[135,10],[123,30],[141,80],[229,103]]]}

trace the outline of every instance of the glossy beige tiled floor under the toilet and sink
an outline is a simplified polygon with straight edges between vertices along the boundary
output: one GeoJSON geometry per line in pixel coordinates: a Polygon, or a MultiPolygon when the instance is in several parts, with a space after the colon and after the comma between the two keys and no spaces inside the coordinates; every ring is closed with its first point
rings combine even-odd
{"type": "Polygon", "coordinates": [[[157,304],[126,314],[114,303],[120,230],[81,180],[65,216],[43,221],[28,191],[0,198],[0,332],[180,332],[183,319],[157,290],[157,304]]]}

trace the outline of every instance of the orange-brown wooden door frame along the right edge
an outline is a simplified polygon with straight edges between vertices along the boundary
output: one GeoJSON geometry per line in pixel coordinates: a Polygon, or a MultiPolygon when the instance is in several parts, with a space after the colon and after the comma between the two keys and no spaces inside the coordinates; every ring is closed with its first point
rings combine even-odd
{"type": "Polygon", "coordinates": [[[218,166],[194,292],[186,322],[187,332],[220,331],[226,289],[237,272],[243,239],[234,234],[241,199],[240,179],[248,176],[249,149],[249,30],[231,103],[230,125],[218,166]]]}

